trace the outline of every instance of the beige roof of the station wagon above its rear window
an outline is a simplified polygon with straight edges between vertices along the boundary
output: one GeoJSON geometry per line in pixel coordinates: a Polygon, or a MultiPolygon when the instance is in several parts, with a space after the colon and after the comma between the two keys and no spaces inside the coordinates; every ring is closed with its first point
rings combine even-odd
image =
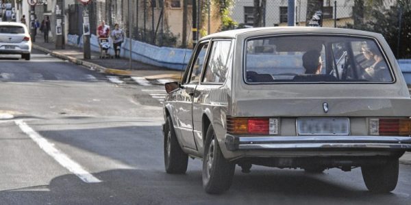
{"type": "Polygon", "coordinates": [[[206,40],[209,38],[238,38],[238,36],[259,36],[276,33],[336,33],[361,36],[381,35],[379,33],[373,33],[369,31],[329,27],[257,27],[249,29],[234,29],[229,31],[221,31],[219,33],[212,33],[208,36],[201,38],[201,40],[206,40]]]}

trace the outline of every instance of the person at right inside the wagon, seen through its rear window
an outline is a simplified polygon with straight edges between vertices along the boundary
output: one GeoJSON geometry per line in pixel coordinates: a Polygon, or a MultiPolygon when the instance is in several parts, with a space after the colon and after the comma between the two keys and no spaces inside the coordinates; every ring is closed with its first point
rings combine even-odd
{"type": "Polygon", "coordinates": [[[362,44],[361,52],[368,61],[373,63],[368,68],[364,69],[362,79],[369,81],[389,81],[390,73],[388,72],[387,64],[384,61],[377,46],[373,43],[362,44]]]}

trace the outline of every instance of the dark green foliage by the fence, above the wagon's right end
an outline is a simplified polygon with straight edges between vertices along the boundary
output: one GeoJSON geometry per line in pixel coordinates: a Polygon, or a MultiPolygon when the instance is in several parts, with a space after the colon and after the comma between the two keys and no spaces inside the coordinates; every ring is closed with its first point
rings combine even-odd
{"type": "Polygon", "coordinates": [[[379,1],[369,2],[364,12],[364,17],[368,20],[347,27],[381,33],[395,53],[395,57],[411,58],[411,0],[398,0],[389,9],[379,1]]]}

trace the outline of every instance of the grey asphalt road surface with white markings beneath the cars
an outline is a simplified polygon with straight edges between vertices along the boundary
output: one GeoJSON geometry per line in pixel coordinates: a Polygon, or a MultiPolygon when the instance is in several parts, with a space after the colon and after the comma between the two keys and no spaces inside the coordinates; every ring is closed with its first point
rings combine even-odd
{"type": "Polygon", "coordinates": [[[366,191],[360,169],[236,169],[223,195],[201,185],[201,161],[164,172],[160,85],[117,85],[34,52],[0,55],[0,204],[410,204],[411,165],[397,189],[366,191]],[[18,56],[17,56],[18,57],[18,56]],[[159,100],[160,99],[160,100],[159,100]]]}

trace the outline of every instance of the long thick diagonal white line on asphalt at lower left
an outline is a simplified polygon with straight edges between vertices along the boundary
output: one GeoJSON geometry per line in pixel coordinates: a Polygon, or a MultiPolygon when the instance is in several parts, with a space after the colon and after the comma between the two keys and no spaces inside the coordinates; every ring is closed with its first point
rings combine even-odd
{"type": "Polygon", "coordinates": [[[70,159],[69,156],[55,148],[53,143],[47,141],[47,139],[42,137],[25,122],[23,122],[23,120],[15,120],[14,122],[18,125],[18,127],[21,128],[21,131],[23,131],[23,133],[25,133],[26,135],[29,135],[29,137],[32,138],[33,141],[35,141],[42,150],[53,157],[53,159],[60,163],[60,165],[62,165],[66,169],[69,169],[70,172],[78,176],[81,180],[86,183],[101,182],[101,180],[99,180],[95,176],[92,176],[92,174],[83,169],[81,165],[70,159]]]}

